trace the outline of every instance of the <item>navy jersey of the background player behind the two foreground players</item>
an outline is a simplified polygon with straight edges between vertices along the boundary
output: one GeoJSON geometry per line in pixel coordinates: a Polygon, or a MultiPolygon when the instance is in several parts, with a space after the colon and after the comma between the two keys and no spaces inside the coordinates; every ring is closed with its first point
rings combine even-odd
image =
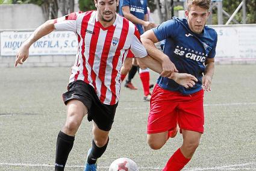
{"type": "MultiPolygon", "coordinates": [[[[129,6],[130,13],[136,16],[138,19],[144,20],[144,15],[148,13],[148,2],[146,0],[120,0],[119,2],[119,14],[123,16],[122,7],[129,6]]],[[[143,26],[136,24],[140,34],[144,33],[143,26]]]]}

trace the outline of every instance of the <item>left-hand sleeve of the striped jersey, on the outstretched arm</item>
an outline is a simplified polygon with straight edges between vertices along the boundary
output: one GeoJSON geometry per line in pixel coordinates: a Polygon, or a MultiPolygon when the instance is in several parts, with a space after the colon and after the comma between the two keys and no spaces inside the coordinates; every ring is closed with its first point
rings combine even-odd
{"type": "Polygon", "coordinates": [[[59,31],[76,31],[76,17],[78,13],[70,13],[54,20],[54,26],[59,31]]]}

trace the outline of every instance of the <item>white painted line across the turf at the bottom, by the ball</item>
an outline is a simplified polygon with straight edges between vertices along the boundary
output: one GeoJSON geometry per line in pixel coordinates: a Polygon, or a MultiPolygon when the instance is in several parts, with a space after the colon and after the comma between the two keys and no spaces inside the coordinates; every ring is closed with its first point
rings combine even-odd
{"type": "MultiPolygon", "coordinates": [[[[244,164],[233,164],[228,166],[216,166],[216,167],[205,167],[205,168],[187,168],[189,171],[198,170],[254,170],[253,168],[232,168],[232,167],[243,167],[243,166],[253,166],[256,163],[244,163],[244,164]]],[[[0,166],[20,166],[20,167],[54,167],[54,165],[49,164],[29,164],[29,163],[0,163],[0,166]]],[[[83,168],[84,166],[66,166],[71,168],[83,168]]],[[[109,166],[98,166],[99,169],[108,169],[109,166]]],[[[160,167],[139,167],[143,170],[160,170],[160,167]]]]}

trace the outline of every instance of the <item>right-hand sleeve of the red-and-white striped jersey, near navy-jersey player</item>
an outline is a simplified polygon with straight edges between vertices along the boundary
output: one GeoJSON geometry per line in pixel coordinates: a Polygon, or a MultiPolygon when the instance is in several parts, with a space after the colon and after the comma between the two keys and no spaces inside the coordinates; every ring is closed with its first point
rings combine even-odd
{"type": "Polygon", "coordinates": [[[142,42],[140,42],[140,33],[137,28],[135,29],[131,39],[131,52],[133,52],[134,57],[146,57],[148,53],[146,52],[145,47],[142,45],[142,42]]]}

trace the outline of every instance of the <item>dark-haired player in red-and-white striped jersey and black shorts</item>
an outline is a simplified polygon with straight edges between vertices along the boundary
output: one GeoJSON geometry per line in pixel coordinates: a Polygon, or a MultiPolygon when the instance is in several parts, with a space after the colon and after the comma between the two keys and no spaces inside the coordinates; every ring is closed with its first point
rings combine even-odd
{"type": "MultiPolygon", "coordinates": [[[[96,170],[96,161],[108,145],[120,94],[120,70],[128,51],[161,75],[175,70],[173,66],[163,69],[156,60],[146,57],[136,26],[116,14],[118,3],[118,0],[95,0],[96,11],[71,13],[48,20],[22,43],[17,52],[15,66],[28,58],[34,42],[54,30],[73,31],[78,40],[69,85],[63,93],[67,118],[57,136],[55,170],[64,170],[76,131],[86,115],[89,121],[93,120],[93,140],[85,170],[96,170]]],[[[186,73],[173,73],[172,78],[185,87],[192,87],[196,81],[194,76],[186,73]]]]}

